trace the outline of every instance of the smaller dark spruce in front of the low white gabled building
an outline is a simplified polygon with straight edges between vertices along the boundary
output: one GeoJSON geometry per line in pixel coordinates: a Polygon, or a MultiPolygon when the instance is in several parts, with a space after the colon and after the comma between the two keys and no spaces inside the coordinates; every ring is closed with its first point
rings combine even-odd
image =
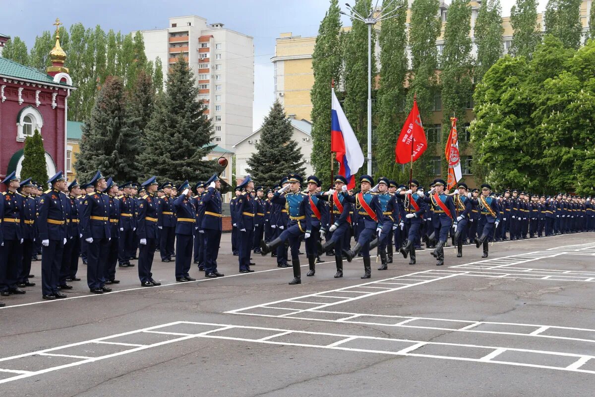
{"type": "Polygon", "coordinates": [[[248,173],[262,186],[274,186],[289,173],[306,177],[302,152],[293,140],[291,121],[278,100],[262,123],[256,152],[250,156],[248,167],[248,173]]]}

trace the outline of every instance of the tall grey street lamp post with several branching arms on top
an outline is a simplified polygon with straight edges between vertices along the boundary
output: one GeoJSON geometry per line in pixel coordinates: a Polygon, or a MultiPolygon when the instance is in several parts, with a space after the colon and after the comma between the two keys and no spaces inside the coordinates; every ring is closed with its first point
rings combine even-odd
{"type": "Polygon", "coordinates": [[[387,11],[393,3],[394,0],[390,0],[387,5],[383,6],[380,11],[375,13],[375,11],[378,10],[378,0],[376,0],[376,4],[369,11],[367,17],[359,14],[358,11],[347,3],[345,3],[345,5],[351,14],[340,11],[341,14],[362,21],[368,25],[368,175],[372,174],[372,27],[378,22],[393,18],[397,15],[396,11],[403,6],[399,5],[398,7],[392,7],[390,8],[390,11],[387,11]]]}

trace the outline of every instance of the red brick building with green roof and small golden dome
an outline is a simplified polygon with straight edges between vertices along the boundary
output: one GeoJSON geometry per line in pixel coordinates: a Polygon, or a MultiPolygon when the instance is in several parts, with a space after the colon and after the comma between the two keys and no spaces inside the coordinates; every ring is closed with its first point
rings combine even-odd
{"type": "Polygon", "coordinates": [[[0,177],[15,170],[20,176],[24,140],[36,129],[48,175],[66,169],[68,96],[74,87],[59,37],[50,55],[47,73],[0,57],[0,177]]]}

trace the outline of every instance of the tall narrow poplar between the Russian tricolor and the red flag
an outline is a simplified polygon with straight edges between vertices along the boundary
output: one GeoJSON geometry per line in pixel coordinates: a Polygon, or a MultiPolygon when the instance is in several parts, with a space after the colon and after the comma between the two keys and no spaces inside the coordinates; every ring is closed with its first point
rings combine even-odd
{"type": "MultiPolygon", "coordinates": [[[[374,158],[377,174],[395,177],[394,146],[405,118],[405,77],[408,69],[405,30],[405,0],[397,0],[395,7],[403,7],[397,15],[382,23],[380,43],[380,87],[378,88],[378,127],[374,158]]],[[[396,166],[397,170],[402,167],[396,166]]]]}

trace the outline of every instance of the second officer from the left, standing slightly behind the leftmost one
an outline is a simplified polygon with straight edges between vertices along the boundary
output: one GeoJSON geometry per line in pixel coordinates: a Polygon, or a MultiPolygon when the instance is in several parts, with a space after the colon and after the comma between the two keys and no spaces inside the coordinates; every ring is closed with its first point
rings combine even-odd
{"type": "Polygon", "coordinates": [[[37,202],[35,198],[31,196],[33,189],[33,183],[31,178],[27,178],[21,182],[19,192],[21,200],[23,201],[23,212],[22,218],[23,223],[21,224],[23,232],[23,254],[21,255],[21,268],[18,274],[17,286],[18,287],[33,287],[35,283],[29,282],[29,274],[31,273],[31,261],[33,259],[35,249],[35,239],[37,237],[37,225],[35,220],[37,219],[37,202]]]}

